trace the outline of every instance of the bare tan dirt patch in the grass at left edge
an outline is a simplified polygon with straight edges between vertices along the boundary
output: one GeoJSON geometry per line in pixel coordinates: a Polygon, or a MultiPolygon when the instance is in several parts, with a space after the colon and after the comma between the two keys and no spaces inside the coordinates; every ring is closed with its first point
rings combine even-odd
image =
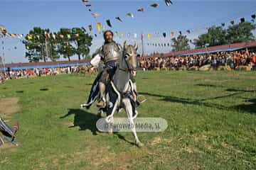
{"type": "Polygon", "coordinates": [[[13,113],[20,110],[18,106],[18,98],[0,98],[0,117],[9,120],[13,113]]]}

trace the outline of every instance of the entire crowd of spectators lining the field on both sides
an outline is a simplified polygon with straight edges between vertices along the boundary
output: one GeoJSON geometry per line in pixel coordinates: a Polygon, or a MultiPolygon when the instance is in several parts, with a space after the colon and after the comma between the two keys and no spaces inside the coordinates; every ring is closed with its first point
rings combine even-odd
{"type": "MultiPolygon", "coordinates": [[[[171,56],[171,57],[148,57],[139,60],[139,67],[144,70],[154,69],[178,69],[185,67],[203,67],[210,65],[213,69],[219,66],[230,67],[236,69],[240,66],[256,67],[256,55],[254,52],[247,50],[235,52],[217,52],[204,55],[188,55],[188,56],[171,56]]],[[[6,79],[21,79],[29,77],[41,77],[55,74],[69,74],[83,72],[84,67],[58,67],[58,68],[43,68],[43,69],[23,69],[10,70],[9,72],[0,71],[0,83],[6,79]]]]}

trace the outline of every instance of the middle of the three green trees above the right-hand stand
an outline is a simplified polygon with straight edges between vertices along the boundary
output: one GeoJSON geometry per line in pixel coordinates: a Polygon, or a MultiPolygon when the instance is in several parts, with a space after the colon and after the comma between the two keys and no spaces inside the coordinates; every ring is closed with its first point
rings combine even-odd
{"type": "Polygon", "coordinates": [[[226,40],[226,30],[223,27],[210,27],[208,29],[208,33],[202,34],[198,36],[198,39],[194,39],[193,44],[196,45],[197,48],[207,46],[216,46],[216,45],[225,45],[228,43],[226,40]]]}

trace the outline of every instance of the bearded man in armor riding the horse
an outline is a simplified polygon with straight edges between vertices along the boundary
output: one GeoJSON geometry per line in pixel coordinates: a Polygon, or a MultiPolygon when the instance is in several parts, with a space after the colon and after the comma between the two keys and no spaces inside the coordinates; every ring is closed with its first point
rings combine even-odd
{"type": "MultiPolygon", "coordinates": [[[[105,67],[102,71],[102,76],[99,80],[99,89],[100,89],[100,100],[97,102],[97,107],[105,108],[106,106],[106,85],[110,83],[112,77],[114,76],[114,72],[117,69],[117,64],[119,62],[119,58],[122,55],[122,46],[113,40],[113,33],[111,30],[106,30],[103,34],[105,42],[98,54],[92,58],[90,65],[87,68],[96,66],[100,61],[105,64],[105,67]]],[[[135,84],[135,79],[132,77],[132,82],[135,84]]],[[[136,90],[136,89],[135,89],[136,90]]],[[[144,97],[142,98],[142,102],[146,101],[144,97]]]]}

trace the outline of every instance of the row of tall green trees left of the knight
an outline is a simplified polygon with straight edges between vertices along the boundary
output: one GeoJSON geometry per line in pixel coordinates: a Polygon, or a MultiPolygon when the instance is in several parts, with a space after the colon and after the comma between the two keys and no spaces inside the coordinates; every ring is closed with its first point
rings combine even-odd
{"type": "Polygon", "coordinates": [[[49,29],[34,27],[23,44],[29,62],[55,61],[60,57],[70,61],[75,55],[81,60],[89,56],[92,36],[82,28],[60,28],[57,33],[50,33],[49,29]]]}

